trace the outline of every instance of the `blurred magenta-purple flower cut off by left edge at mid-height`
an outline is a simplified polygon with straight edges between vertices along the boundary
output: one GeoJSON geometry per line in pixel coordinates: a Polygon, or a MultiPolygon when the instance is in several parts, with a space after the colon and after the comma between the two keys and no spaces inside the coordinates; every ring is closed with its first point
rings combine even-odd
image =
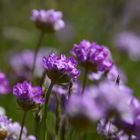
{"type": "Polygon", "coordinates": [[[3,72],[0,72],[0,94],[8,94],[10,92],[9,81],[3,72]]]}

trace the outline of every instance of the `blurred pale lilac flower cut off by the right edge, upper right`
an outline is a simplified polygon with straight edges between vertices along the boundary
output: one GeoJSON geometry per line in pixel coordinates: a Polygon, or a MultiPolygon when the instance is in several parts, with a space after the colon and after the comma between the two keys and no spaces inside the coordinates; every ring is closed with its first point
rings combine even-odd
{"type": "Polygon", "coordinates": [[[133,32],[122,32],[114,37],[115,46],[123,52],[128,53],[131,60],[140,59],[140,36],[133,32]]]}

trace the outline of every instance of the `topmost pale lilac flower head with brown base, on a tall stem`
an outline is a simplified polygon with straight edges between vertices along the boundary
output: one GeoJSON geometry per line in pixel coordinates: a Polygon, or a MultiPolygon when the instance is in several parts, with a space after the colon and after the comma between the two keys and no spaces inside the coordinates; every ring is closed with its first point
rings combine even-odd
{"type": "Polygon", "coordinates": [[[65,23],[62,20],[63,14],[60,11],[50,10],[32,10],[31,20],[42,32],[57,32],[64,28],[65,23]]]}

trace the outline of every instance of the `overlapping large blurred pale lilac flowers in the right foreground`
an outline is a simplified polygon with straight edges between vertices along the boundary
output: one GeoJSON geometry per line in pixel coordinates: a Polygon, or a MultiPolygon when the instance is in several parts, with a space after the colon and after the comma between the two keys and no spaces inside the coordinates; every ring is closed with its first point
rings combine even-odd
{"type": "MultiPolygon", "coordinates": [[[[134,122],[133,108],[129,105],[133,96],[114,82],[101,82],[98,86],[87,87],[83,96],[77,95],[72,95],[66,106],[67,115],[72,122],[78,122],[82,116],[90,122],[112,117],[118,122],[134,122]]],[[[80,127],[81,122],[83,121],[80,121],[80,127]]]]}

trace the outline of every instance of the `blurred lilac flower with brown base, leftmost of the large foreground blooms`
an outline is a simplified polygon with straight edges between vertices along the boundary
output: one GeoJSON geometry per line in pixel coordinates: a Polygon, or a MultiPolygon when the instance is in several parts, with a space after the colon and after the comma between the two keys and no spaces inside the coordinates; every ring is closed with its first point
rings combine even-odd
{"type": "Polygon", "coordinates": [[[102,111],[88,96],[72,95],[66,105],[66,114],[77,128],[85,129],[102,117],[102,111]]]}

